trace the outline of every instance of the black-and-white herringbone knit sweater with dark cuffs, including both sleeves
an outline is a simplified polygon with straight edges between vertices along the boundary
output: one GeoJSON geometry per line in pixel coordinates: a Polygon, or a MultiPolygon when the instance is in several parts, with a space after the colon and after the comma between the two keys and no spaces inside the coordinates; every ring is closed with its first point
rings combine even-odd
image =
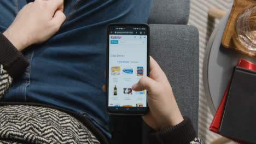
{"type": "MultiPolygon", "coordinates": [[[[0,33],[0,100],[28,64],[22,53],[0,33]]],[[[49,105],[0,102],[0,123],[0,143],[108,143],[89,119],[49,105]]],[[[149,139],[155,144],[203,143],[187,117],[174,127],[152,131],[149,139]]]]}

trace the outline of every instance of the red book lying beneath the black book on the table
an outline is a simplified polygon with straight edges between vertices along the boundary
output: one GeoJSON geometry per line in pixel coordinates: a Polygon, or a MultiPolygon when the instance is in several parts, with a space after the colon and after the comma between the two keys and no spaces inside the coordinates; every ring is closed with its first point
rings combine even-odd
{"type": "MultiPolygon", "coordinates": [[[[237,66],[242,67],[242,68],[251,69],[251,70],[256,70],[256,64],[248,62],[245,59],[239,59],[237,66]]],[[[226,88],[226,91],[222,97],[222,100],[220,101],[218,109],[213,117],[212,123],[209,128],[214,133],[218,133],[219,123],[220,123],[220,119],[222,118],[222,112],[223,112],[223,108],[225,105],[226,94],[228,93],[228,89],[229,89],[229,85],[226,88]]],[[[229,137],[227,137],[227,138],[229,138],[229,137]]],[[[231,138],[229,138],[229,139],[231,139],[231,138]]],[[[231,140],[242,143],[242,144],[251,144],[251,143],[245,142],[245,141],[240,141],[240,140],[235,140],[235,139],[231,139],[231,140]]]]}

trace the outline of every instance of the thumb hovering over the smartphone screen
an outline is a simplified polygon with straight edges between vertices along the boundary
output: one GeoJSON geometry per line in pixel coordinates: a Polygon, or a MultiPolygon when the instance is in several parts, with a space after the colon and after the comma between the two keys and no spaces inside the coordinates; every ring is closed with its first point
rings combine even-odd
{"type": "Polygon", "coordinates": [[[156,86],[156,81],[148,76],[143,76],[141,79],[132,86],[133,91],[143,91],[146,89],[148,92],[152,92],[156,86]]]}

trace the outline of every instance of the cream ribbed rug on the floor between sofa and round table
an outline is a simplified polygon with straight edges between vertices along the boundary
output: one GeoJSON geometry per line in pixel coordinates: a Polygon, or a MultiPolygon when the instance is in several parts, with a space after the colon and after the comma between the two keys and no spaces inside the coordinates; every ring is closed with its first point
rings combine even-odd
{"type": "Polygon", "coordinates": [[[205,48],[213,29],[218,25],[219,20],[208,19],[208,9],[217,8],[228,11],[231,8],[233,0],[190,0],[190,16],[188,25],[197,27],[199,31],[199,136],[210,143],[218,139],[219,135],[208,130],[213,115],[208,107],[202,80],[203,58],[205,48]]]}

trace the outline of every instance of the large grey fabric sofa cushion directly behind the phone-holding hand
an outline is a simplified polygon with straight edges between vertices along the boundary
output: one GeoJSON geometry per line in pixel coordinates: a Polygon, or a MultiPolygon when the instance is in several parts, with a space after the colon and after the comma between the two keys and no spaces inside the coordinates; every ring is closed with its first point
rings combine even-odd
{"type": "Polygon", "coordinates": [[[149,25],[150,55],[165,71],[183,116],[197,131],[199,104],[199,35],[194,26],[149,25]]]}

